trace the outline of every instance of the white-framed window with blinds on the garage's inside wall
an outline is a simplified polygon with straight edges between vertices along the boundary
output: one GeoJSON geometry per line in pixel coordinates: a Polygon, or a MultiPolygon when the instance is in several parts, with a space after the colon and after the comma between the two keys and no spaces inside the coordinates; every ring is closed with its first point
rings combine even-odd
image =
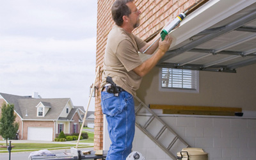
{"type": "Polygon", "coordinates": [[[160,73],[161,91],[199,92],[199,72],[197,70],[161,68],[160,73]]]}

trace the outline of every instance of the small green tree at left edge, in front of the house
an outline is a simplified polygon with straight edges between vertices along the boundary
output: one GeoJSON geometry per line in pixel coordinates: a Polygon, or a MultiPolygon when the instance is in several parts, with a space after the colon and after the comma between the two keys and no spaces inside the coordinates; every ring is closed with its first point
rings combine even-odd
{"type": "Polygon", "coordinates": [[[6,146],[8,145],[8,138],[15,137],[19,124],[15,122],[16,115],[14,115],[14,105],[3,103],[2,112],[0,117],[0,135],[6,140],[6,146]]]}

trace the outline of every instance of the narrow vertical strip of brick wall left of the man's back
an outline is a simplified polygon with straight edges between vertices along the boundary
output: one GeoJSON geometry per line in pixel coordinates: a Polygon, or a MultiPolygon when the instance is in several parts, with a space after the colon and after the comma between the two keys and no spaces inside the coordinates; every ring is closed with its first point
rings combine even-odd
{"type": "MultiPolygon", "coordinates": [[[[97,46],[96,46],[96,68],[100,66],[100,74],[97,76],[96,84],[101,83],[104,51],[107,36],[114,23],[111,16],[111,5],[113,0],[98,0],[97,13],[97,46]]],[[[100,90],[95,96],[95,120],[94,120],[94,150],[103,149],[103,114],[100,106],[100,90]]]]}

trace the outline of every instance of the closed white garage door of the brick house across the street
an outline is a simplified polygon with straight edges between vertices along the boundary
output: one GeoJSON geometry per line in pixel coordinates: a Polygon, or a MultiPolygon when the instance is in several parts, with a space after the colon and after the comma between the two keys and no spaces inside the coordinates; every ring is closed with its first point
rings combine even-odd
{"type": "Polygon", "coordinates": [[[28,140],[52,141],[52,127],[28,127],[28,140]]]}

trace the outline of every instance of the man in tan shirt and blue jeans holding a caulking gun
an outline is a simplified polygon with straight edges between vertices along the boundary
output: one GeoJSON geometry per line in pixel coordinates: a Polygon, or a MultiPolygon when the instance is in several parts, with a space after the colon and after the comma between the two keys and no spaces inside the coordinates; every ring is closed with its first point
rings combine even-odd
{"type": "Polygon", "coordinates": [[[142,62],[138,52],[145,51],[154,40],[143,42],[132,31],[140,25],[141,11],[133,0],[116,0],[111,8],[116,26],[109,32],[102,74],[101,106],[108,121],[111,139],[107,159],[126,159],[132,149],[135,130],[134,100],[141,79],[168,51],[172,38],[155,43],[146,54],[156,53],[142,62]]]}

